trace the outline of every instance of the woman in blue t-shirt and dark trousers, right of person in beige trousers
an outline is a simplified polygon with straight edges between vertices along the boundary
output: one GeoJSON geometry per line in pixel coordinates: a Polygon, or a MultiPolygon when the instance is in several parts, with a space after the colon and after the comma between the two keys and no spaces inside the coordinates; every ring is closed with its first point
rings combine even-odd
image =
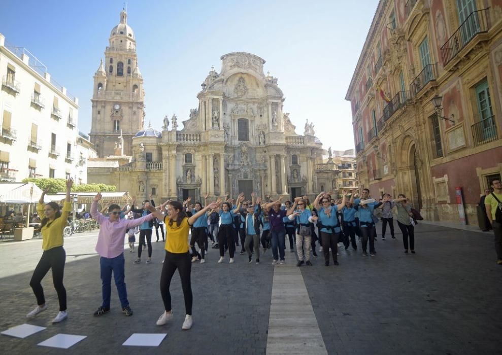
{"type": "Polygon", "coordinates": [[[337,213],[344,206],[347,201],[347,191],[342,192],[342,203],[331,206],[329,195],[321,192],[314,201],[314,206],[318,210],[319,221],[317,227],[319,228],[319,236],[322,240],[322,252],[324,253],[324,265],[329,266],[329,248],[333,256],[333,264],[338,263],[338,238],[340,237],[340,223],[338,221],[337,213]],[[319,200],[321,203],[319,204],[319,200]]]}

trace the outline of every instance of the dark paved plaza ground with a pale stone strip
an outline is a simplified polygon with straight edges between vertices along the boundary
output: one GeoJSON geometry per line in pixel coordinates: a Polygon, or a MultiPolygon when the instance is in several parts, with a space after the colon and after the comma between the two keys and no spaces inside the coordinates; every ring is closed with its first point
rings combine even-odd
{"type": "Polygon", "coordinates": [[[235,264],[217,264],[218,251],[211,249],[206,264],[192,265],[190,331],[181,330],[185,313],[178,274],[171,285],[174,319],[155,325],[163,310],[161,241],[153,242],[150,265],[145,254],[142,264],[133,265],[136,254],[125,251],[133,316],[122,314],[112,285],[111,312],[94,317],[101,305],[97,235],[66,238],[69,318],[57,325],[51,324],[58,305],[50,272],[42,283],[48,310],[25,319],[36,305],[28,283],[42,254],[41,240],[3,242],[0,330],[25,322],[47,329],[25,339],[0,336],[0,353],[500,353],[502,267],[492,234],[421,223],[416,255],[405,255],[396,236],[378,240],[376,257],[362,257],[359,247],[357,253],[341,251],[340,266],[329,267],[318,253],[313,267],[296,268],[288,250],[286,265],[272,266],[270,251],[260,265],[238,254],[235,264]],[[158,348],[122,346],[132,333],[162,332],[167,336],[158,348]],[[37,346],[58,333],[87,338],[70,350],[37,346]],[[312,343],[298,342],[307,333],[312,343]]]}

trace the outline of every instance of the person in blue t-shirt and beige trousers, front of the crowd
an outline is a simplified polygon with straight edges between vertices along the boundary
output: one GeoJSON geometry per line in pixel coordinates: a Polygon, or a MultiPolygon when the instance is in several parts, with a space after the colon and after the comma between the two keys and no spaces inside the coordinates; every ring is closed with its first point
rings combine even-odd
{"type": "Polygon", "coordinates": [[[303,264],[312,266],[310,262],[310,248],[312,247],[311,224],[317,221],[317,217],[312,217],[312,212],[310,209],[307,209],[306,206],[306,201],[302,197],[297,197],[286,213],[288,219],[291,221],[296,220],[296,225],[298,226],[296,234],[296,254],[298,255],[298,262],[296,266],[302,266],[303,264]],[[298,207],[298,209],[296,209],[296,207],[298,207]]]}

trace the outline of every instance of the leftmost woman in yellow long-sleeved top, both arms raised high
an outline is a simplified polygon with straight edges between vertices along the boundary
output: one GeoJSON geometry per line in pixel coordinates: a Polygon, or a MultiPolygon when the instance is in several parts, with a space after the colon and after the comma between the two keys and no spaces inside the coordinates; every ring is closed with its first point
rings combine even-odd
{"type": "Polygon", "coordinates": [[[63,286],[64,261],[66,259],[66,253],[63,249],[63,229],[68,221],[68,212],[72,209],[70,202],[72,185],[73,179],[70,177],[70,179],[66,180],[66,199],[62,210],[59,209],[56,202],[49,202],[44,205],[44,196],[49,189],[42,193],[37,204],[37,213],[39,216],[43,216],[41,233],[44,253],[29,281],[29,286],[31,286],[35,297],[37,297],[37,307],[26,315],[28,318],[34,317],[47,309],[44,289],[40,282],[51,268],[52,281],[59,300],[59,313],[52,320],[52,323],[59,323],[68,317],[68,313],[66,313],[66,290],[63,286]]]}

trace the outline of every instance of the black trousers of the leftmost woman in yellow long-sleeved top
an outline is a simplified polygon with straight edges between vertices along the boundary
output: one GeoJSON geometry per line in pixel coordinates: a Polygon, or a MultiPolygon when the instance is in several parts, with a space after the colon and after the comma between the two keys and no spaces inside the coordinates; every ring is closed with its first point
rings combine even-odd
{"type": "Polygon", "coordinates": [[[63,286],[64,262],[66,260],[66,253],[62,246],[56,246],[52,249],[45,250],[40,258],[39,263],[35,267],[35,271],[29,281],[29,286],[33,289],[35,297],[37,297],[37,304],[40,306],[45,303],[44,289],[42,288],[41,281],[44,276],[52,269],[52,282],[57,292],[59,300],[59,310],[66,310],[66,289],[63,286]]]}

